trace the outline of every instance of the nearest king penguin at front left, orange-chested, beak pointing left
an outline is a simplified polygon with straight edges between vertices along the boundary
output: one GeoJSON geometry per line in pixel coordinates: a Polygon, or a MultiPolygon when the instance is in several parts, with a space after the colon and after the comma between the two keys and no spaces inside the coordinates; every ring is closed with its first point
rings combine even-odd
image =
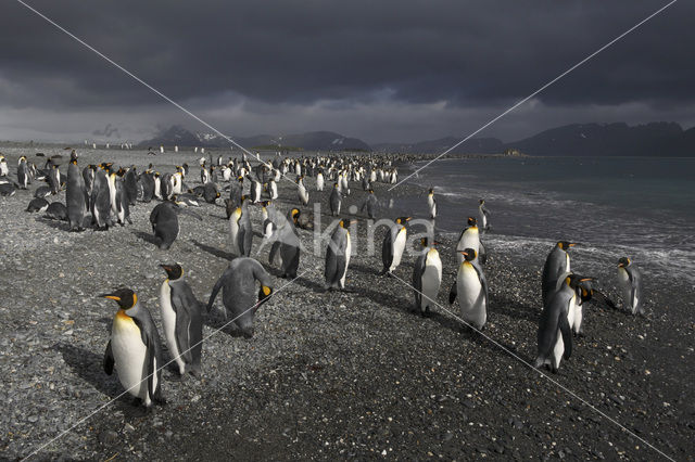
{"type": "Polygon", "coordinates": [[[160,335],[150,311],[129,288],[101,296],[115,300],[121,308],[113,318],[111,338],[104,352],[104,371],[111,375],[115,368],[123,387],[147,408],[152,402],[165,403],[160,335]]]}

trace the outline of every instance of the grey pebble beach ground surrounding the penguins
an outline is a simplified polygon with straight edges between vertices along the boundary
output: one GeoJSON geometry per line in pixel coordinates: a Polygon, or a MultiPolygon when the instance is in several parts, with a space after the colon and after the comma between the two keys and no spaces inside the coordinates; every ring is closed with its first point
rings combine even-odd
{"type": "MultiPolygon", "coordinates": [[[[20,155],[43,162],[28,149],[2,151],[11,178],[20,155]]],[[[63,167],[70,156],[61,154],[63,167]]],[[[152,162],[160,171],[174,171],[186,161],[191,166],[186,182],[199,183],[200,154],[191,152],[78,154],[80,168],[112,161],[143,171],[152,162]]],[[[229,152],[222,155],[227,158],[229,152]]],[[[267,265],[269,248],[256,254],[257,206],[250,207],[258,231],[252,256],[274,275],[275,295],[256,313],[254,337],[245,339],[231,326],[217,332],[225,324],[218,298],[205,321],[202,377],[177,381],[167,368],[163,393],[168,403],[143,414],[122,396],[116,376],[103,372],[116,307],[97,295],[119,285],[132,288],[162,332],[157,297],[166,275],[159,265],[178,261],[195,296],[206,303],[231,257],[222,201],[195,209],[202,221],[181,215],[178,239],[161,251],[149,223],[155,202],[131,207],[132,226],[71,233],[65,222],[24,211],[37,185],[0,197],[4,458],[36,450],[39,460],[664,458],[596,410],[668,457],[693,457],[695,291],[686,281],[653,275],[644,262],[646,317],[590,306],[585,336],[576,338],[571,359],[551,374],[523,363],[535,356],[547,243],[489,248],[486,338],[446,312],[457,313],[457,305],[447,301],[456,273],[451,239],[440,239],[441,307],[422,318],[412,311],[409,287],[378,275],[386,228],[377,232],[376,255],[354,249],[346,291],[327,293],[326,243],[314,255],[311,231],[300,230],[307,248],[293,282],[277,278],[277,267],[267,265]]],[[[307,185],[309,207],[302,211],[311,211],[320,196],[328,213],[328,182],[323,193],[315,191],[314,179],[307,185]]],[[[382,203],[389,187],[375,184],[382,203]]],[[[283,214],[299,205],[293,184],[281,180],[278,189],[276,206],[283,214]]],[[[358,184],[351,189],[344,211],[365,196],[358,184]]],[[[406,183],[393,193],[420,190],[406,183]]],[[[64,202],[64,195],[49,202],[64,202]]],[[[462,209],[462,223],[475,213],[462,209]]],[[[364,244],[366,217],[343,216],[358,220],[357,241],[364,244]]],[[[395,218],[387,207],[379,216],[395,218]]],[[[331,217],[321,221],[326,227],[331,217]]],[[[620,300],[617,261],[583,254],[581,247],[571,258],[573,269],[596,277],[601,288],[620,300]]],[[[410,282],[414,260],[404,256],[395,274],[410,282]]]]}

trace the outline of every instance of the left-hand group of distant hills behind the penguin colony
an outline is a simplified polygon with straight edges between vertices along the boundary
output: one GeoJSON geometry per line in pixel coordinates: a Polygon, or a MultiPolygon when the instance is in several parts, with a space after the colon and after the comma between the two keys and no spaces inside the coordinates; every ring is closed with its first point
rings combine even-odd
{"type": "MultiPolygon", "coordinates": [[[[244,147],[252,146],[269,146],[273,144],[286,144],[292,147],[299,147],[305,151],[350,151],[364,150],[371,151],[371,147],[364,141],[334,133],[332,131],[312,131],[308,133],[286,134],[257,134],[254,137],[233,137],[236,142],[244,147]]],[[[227,147],[229,142],[218,134],[214,133],[193,133],[180,126],[173,126],[162,130],[159,134],[150,140],[139,143],[141,147],[159,146],[159,145],[179,145],[179,146],[202,146],[202,147],[227,147]]]]}

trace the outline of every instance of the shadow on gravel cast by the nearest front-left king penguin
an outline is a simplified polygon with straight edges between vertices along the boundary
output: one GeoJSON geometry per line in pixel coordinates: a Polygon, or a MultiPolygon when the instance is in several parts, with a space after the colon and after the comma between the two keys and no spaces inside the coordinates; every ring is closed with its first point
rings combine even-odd
{"type": "Polygon", "coordinates": [[[118,398],[118,401],[129,403],[128,396],[123,394],[117,380],[114,375],[109,376],[104,372],[103,356],[85,349],[79,345],[71,345],[66,343],[58,343],[53,345],[53,349],[63,356],[65,364],[83,381],[90,384],[99,393],[106,395],[109,398],[118,398]]]}

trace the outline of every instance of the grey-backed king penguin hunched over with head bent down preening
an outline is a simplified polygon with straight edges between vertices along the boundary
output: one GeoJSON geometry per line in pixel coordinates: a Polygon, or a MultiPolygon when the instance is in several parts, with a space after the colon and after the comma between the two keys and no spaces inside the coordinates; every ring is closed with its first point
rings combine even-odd
{"type": "Polygon", "coordinates": [[[207,312],[212,309],[220,288],[223,290],[222,300],[225,305],[225,319],[231,316],[242,334],[247,338],[251,338],[254,333],[255,312],[273,293],[270,274],[253,258],[235,258],[215,283],[207,300],[207,312]],[[261,284],[257,298],[256,281],[261,284]]]}

